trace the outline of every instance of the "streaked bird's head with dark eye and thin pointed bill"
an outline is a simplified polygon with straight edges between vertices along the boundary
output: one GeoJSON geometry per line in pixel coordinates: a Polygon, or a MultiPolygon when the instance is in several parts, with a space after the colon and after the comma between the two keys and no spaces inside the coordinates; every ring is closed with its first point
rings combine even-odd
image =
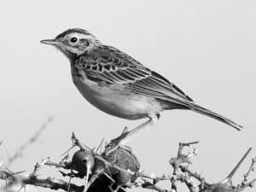
{"type": "Polygon", "coordinates": [[[78,28],[68,29],[56,38],[42,40],[40,43],[54,45],[69,59],[82,55],[85,51],[94,49],[97,44],[101,44],[90,32],[78,28]]]}

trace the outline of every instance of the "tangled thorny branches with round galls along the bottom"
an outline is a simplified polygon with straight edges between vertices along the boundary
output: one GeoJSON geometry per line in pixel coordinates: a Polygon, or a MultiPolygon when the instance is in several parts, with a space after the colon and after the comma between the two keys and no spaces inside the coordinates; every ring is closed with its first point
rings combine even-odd
{"type": "MultiPolygon", "coordinates": [[[[10,172],[7,168],[1,169],[0,168],[0,179],[5,180],[8,184],[7,187],[11,187],[16,183],[20,183],[21,187],[26,186],[26,184],[31,184],[34,186],[40,186],[44,188],[49,189],[63,189],[68,192],[82,192],[84,191],[84,186],[78,186],[74,183],[66,182],[62,179],[53,178],[53,177],[47,177],[47,178],[38,178],[39,172],[43,166],[54,166],[57,169],[65,169],[70,170],[71,172],[61,172],[62,177],[76,177],[76,178],[82,178],[84,177],[87,180],[85,183],[85,190],[88,189],[90,192],[96,192],[96,191],[102,191],[102,192],[124,192],[125,188],[127,187],[141,187],[144,189],[154,189],[158,192],[177,192],[177,182],[184,183],[190,192],[213,192],[213,191],[229,191],[229,192],[241,192],[243,189],[246,189],[248,187],[253,187],[253,184],[256,182],[256,178],[251,180],[250,182],[247,182],[248,177],[250,176],[251,172],[254,170],[254,166],[256,164],[256,158],[253,159],[253,162],[251,166],[249,167],[248,171],[244,175],[244,179],[240,185],[237,185],[236,187],[232,185],[231,179],[236,173],[239,166],[241,166],[241,163],[246,159],[247,155],[251,151],[252,148],[249,148],[247,150],[247,153],[241,158],[239,163],[235,166],[235,168],[230,172],[229,176],[224,179],[223,182],[220,183],[207,183],[206,179],[201,176],[198,172],[192,171],[189,169],[189,165],[191,164],[191,159],[197,154],[196,149],[192,152],[189,152],[187,154],[183,153],[184,147],[189,147],[193,144],[197,144],[199,142],[192,142],[192,143],[179,143],[178,151],[177,151],[177,157],[173,157],[170,160],[170,164],[173,168],[173,172],[171,175],[162,175],[160,177],[154,176],[153,174],[147,174],[140,169],[140,163],[137,161],[136,155],[132,153],[129,148],[122,148],[119,144],[122,143],[122,141],[125,141],[123,139],[126,138],[126,134],[129,131],[123,131],[122,135],[120,137],[117,137],[113,140],[111,140],[111,145],[108,144],[105,150],[102,152],[102,154],[98,154],[99,148],[102,148],[102,142],[100,146],[97,149],[90,149],[87,146],[85,146],[83,143],[79,141],[79,139],[74,135],[72,135],[72,141],[73,141],[73,147],[78,146],[80,148],[79,151],[83,150],[85,154],[87,155],[87,152],[90,154],[89,156],[93,162],[95,162],[94,166],[91,166],[92,169],[82,169],[84,168],[83,165],[89,159],[84,159],[81,157],[81,159],[76,159],[80,161],[75,161],[74,158],[72,158],[71,161],[69,161],[69,155],[66,155],[60,162],[53,162],[49,160],[49,158],[44,159],[41,161],[41,163],[37,163],[34,167],[33,172],[29,176],[25,176],[20,174],[21,172],[10,172]],[[113,149],[117,149],[117,153],[113,151],[113,149]],[[124,153],[125,154],[121,154],[124,153]],[[87,151],[87,152],[86,152],[87,151]],[[114,152],[114,153],[111,153],[114,152]],[[119,154],[120,153],[120,154],[119,154]],[[119,154],[119,155],[118,155],[119,154]],[[118,155],[118,156],[116,156],[118,155]],[[131,159],[126,159],[125,155],[128,155],[127,157],[132,157],[131,159]],[[117,159],[119,158],[119,159],[117,159]],[[125,160],[128,162],[129,166],[124,166],[125,164],[119,164],[121,161],[125,162],[125,160]],[[74,163],[77,162],[77,163],[74,163]],[[131,166],[134,162],[135,166],[131,166]],[[79,171],[79,166],[74,165],[81,165],[81,172],[79,171]],[[129,167],[129,168],[128,168],[129,167]],[[135,168],[134,168],[135,167],[135,168]],[[131,170],[132,171],[131,171],[131,170]],[[75,170],[73,172],[73,170],[75,170]],[[83,171],[82,171],[83,170],[83,171]],[[89,176],[89,172],[90,177],[89,176]],[[81,174],[82,173],[82,174],[81,174]],[[113,176],[115,174],[115,176],[113,176]],[[117,179],[118,177],[118,179],[117,179]],[[101,179],[107,179],[108,181],[102,185],[101,179]],[[98,180],[99,179],[99,180],[98,180]],[[123,179],[123,180],[122,180],[123,179]],[[97,183],[100,181],[100,184],[97,183]],[[170,181],[172,183],[171,189],[162,189],[159,184],[161,181],[170,181]],[[195,184],[196,183],[196,184],[195,184]],[[200,183],[200,185],[198,185],[200,183]]],[[[72,148],[73,148],[72,147],[72,148]]],[[[131,149],[131,148],[130,148],[131,149]]],[[[77,153],[75,153],[77,154],[77,153]]],[[[74,155],[73,155],[74,157],[74,155]]],[[[126,162],[126,164],[127,164],[126,162]]],[[[105,181],[105,180],[104,180],[105,181]]]]}

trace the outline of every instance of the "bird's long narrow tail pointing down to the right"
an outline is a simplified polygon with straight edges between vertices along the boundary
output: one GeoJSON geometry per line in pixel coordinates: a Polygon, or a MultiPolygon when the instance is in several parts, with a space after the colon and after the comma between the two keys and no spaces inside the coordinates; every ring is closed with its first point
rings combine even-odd
{"type": "Polygon", "coordinates": [[[211,117],[213,119],[217,119],[217,120],[223,122],[224,124],[230,125],[230,126],[234,127],[236,130],[241,131],[242,126],[236,124],[236,122],[234,122],[233,120],[227,119],[218,113],[214,113],[214,112],[208,110],[207,108],[202,108],[201,106],[195,104],[194,102],[189,102],[189,104],[190,104],[189,105],[190,109],[192,111],[195,111],[196,113],[201,113],[201,114],[207,115],[208,117],[211,117]]]}

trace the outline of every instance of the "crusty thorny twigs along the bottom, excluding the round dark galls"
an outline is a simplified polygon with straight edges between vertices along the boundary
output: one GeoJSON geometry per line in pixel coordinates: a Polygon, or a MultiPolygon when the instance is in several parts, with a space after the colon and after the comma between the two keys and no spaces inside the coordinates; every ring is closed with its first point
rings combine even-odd
{"type": "MultiPolygon", "coordinates": [[[[79,139],[77,137],[75,137],[74,133],[73,133],[72,139],[73,139],[73,146],[78,146],[79,148],[81,148],[83,150],[90,150],[90,152],[91,152],[91,154],[93,154],[94,158],[96,160],[99,160],[102,163],[102,166],[97,170],[97,172],[94,172],[94,174],[91,175],[87,189],[90,188],[91,184],[94,183],[96,181],[96,179],[98,179],[101,174],[108,177],[114,183],[115,180],[113,180],[113,178],[111,176],[109,176],[107,172],[105,172],[108,168],[116,169],[119,172],[124,172],[131,176],[136,176],[137,181],[129,184],[129,186],[142,187],[144,189],[154,189],[155,191],[158,191],[158,192],[177,192],[177,181],[179,181],[181,183],[185,183],[190,192],[207,191],[205,189],[211,189],[211,187],[214,185],[214,184],[207,183],[205,178],[201,177],[201,175],[199,173],[193,172],[189,169],[188,165],[191,164],[191,158],[196,155],[196,150],[194,149],[194,151],[189,154],[183,154],[184,147],[189,147],[190,145],[196,144],[198,142],[179,143],[177,157],[172,158],[170,160],[170,164],[173,167],[172,175],[168,175],[168,176],[163,175],[161,177],[155,177],[155,176],[148,175],[141,171],[140,172],[131,172],[129,170],[125,170],[119,166],[116,166],[114,164],[114,162],[109,162],[108,160],[104,159],[104,157],[105,157],[104,154],[106,154],[106,153],[103,152],[102,154],[97,154],[98,150],[93,150],[88,147],[85,147],[84,144],[80,143],[79,139]],[[199,187],[196,187],[193,178],[195,178],[199,183],[201,183],[199,187]],[[142,183],[138,182],[139,179],[142,180],[142,183]],[[150,179],[152,181],[148,181],[148,179],[150,179]],[[164,181],[164,180],[171,181],[171,183],[172,183],[171,190],[170,189],[162,189],[156,185],[160,181],[164,181]]],[[[120,142],[122,140],[122,138],[119,137],[119,139],[118,139],[118,141],[120,142]]],[[[119,145],[119,142],[116,144],[119,145]]],[[[116,148],[117,145],[112,145],[112,146],[108,145],[108,148],[107,149],[105,148],[105,152],[106,152],[106,150],[109,151],[109,150],[112,150],[113,148],[116,148]]],[[[250,150],[251,150],[251,148],[247,151],[247,154],[250,152],[250,150]]],[[[229,176],[226,179],[224,179],[224,181],[226,181],[228,178],[231,179],[234,176],[237,168],[241,165],[241,162],[247,157],[247,154],[245,154],[243,156],[243,158],[240,160],[240,162],[236,165],[236,167],[233,169],[233,171],[230,172],[229,176]]],[[[255,165],[255,162],[256,162],[256,158],[253,159],[252,165],[249,167],[248,172],[245,174],[242,183],[240,185],[238,185],[237,187],[232,186],[232,189],[234,189],[234,192],[240,192],[247,187],[252,187],[253,183],[256,182],[256,179],[253,179],[251,182],[247,182],[247,177],[250,175],[251,172],[253,172],[253,167],[255,165]]],[[[47,177],[44,179],[38,178],[39,170],[44,165],[55,166],[56,168],[63,168],[63,169],[67,169],[67,170],[72,169],[71,162],[68,162],[67,158],[65,158],[65,160],[61,160],[59,163],[55,163],[53,161],[50,161],[49,159],[45,159],[41,163],[38,163],[35,166],[32,174],[30,174],[27,177],[21,175],[20,172],[14,173],[14,172],[10,172],[6,169],[5,170],[0,169],[0,179],[4,179],[11,184],[12,183],[23,183],[25,185],[32,184],[35,186],[41,186],[41,187],[49,188],[49,189],[63,189],[66,191],[68,190],[69,192],[82,192],[84,190],[84,186],[78,186],[76,184],[69,183],[69,182],[66,182],[61,179],[55,179],[52,177],[47,177]]],[[[73,177],[78,177],[78,176],[73,175],[73,177]]],[[[217,185],[215,184],[215,186],[217,186],[217,185]]]]}

